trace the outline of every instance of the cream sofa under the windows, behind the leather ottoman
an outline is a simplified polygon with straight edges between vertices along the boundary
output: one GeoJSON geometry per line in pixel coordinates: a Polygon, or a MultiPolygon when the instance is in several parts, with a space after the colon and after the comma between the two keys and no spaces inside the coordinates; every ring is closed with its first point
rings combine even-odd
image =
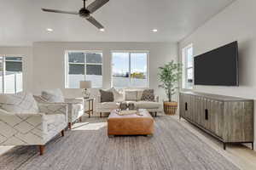
{"type": "Polygon", "coordinates": [[[101,95],[98,94],[96,97],[96,112],[100,113],[102,116],[102,113],[108,113],[114,109],[118,109],[119,103],[125,101],[127,103],[133,103],[137,109],[146,109],[148,112],[154,113],[156,116],[157,112],[161,111],[159,97],[154,96],[154,101],[144,101],[141,99],[143,90],[144,89],[118,89],[119,94],[113,93],[113,102],[101,102],[101,95]],[[133,101],[126,100],[125,91],[137,91],[137,99],[134,99],[133,101]]]}

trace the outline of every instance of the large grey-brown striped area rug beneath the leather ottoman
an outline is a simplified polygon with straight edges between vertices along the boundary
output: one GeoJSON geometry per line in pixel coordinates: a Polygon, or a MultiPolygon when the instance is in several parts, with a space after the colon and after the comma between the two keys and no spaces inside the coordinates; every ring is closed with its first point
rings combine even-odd
{"type": "Polygon", "coordinates": [[[46,145],[17,146],[0,156],[4,170],[238,170],[170,116],[155,120],[153,137],[107,136],[106,119],[88,119],[46,145]]]}

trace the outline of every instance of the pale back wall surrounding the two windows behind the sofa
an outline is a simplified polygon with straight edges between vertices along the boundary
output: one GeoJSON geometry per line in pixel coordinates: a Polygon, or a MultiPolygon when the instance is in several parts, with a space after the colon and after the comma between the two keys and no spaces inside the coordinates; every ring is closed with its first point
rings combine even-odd
{"type": "Polygon", "coordinates": [[[177,43],[167,42],[34,42],[33,43],[33,92],[46,88],[61,88],[67,97],[81,95],[78,89],[65,89],[66,50],[102,50],[103,88],[111,86],[111,50],[148,50],[149,87],[162,98],[164,90],[158,88],[158,67],[172,59],[177,60],[177,43]]]}

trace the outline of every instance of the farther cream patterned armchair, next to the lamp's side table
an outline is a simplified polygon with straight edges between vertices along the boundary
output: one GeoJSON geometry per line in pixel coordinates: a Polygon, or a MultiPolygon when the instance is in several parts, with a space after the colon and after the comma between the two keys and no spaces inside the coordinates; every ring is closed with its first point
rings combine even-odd
{"type": "Polygon", "coordinates": [[[73,122],[76,122],[81,118],[81,116],[84,115],[84,99],[64,99],[60,89],[52,89],[50,90],[50,94],[54,94],[55,98],[61,98],[61,100],[55,101],[55,99],[45,99],[43,95],[34,95],[34,98],[38,101],[38,103],[67,105],[68,128],[71,129],[73,122]]]}

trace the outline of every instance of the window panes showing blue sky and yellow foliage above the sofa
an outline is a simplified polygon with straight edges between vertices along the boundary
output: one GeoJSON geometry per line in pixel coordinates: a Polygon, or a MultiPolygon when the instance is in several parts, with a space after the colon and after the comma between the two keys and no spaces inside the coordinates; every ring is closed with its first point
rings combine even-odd
{"type": "Polygon", "coordinates": [[[148,52],[113,52],[112,87],[147,88],[148,52]]]}

